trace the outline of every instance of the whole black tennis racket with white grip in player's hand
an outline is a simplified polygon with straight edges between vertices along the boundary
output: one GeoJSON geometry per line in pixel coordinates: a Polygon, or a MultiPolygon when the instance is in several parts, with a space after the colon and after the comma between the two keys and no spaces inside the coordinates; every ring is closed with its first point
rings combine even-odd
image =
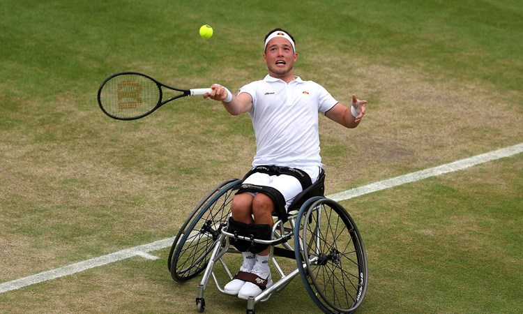
{"type": "Polygon", "coordinates": [[[143,118],[169,101],[211,93],[212,89],[177,89],[158,82],[149,75],[137,72],[116,73],[107,77],[98,89],[98,105],[113,119],[143,118]],[[162,89],[179,92],[163,100],[162,89]]]}

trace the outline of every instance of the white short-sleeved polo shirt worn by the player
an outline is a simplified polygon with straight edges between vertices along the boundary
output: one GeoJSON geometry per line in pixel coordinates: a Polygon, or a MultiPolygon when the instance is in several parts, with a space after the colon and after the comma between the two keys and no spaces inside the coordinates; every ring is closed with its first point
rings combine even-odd
{"type": "Polygon", "coordinates": [[[287,82],[267,75],[252,82],[238,94],[252,96],[248,112],[256,134],[256,155],[252,166],[321,167],[318,113],[338,103],[312,81],[300,77],[287,82]]]}

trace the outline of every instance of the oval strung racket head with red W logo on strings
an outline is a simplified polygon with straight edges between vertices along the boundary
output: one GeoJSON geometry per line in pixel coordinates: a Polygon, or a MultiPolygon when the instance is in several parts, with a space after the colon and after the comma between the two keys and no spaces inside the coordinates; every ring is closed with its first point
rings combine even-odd
{"type": "Polygon", "coordinates": [[[148,77],[125,74],[108,80],[100,94],[103,109],[114,117],[139,117],[151,111],[161,99],[160,87],[148,77]]]}

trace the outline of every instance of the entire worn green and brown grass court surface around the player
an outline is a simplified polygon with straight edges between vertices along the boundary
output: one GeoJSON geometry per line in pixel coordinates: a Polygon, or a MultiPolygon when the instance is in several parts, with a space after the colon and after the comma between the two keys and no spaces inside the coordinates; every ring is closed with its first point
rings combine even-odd
{"type": "MultiPolygon", "coordinates": [[[[296,38],[297,75],[369,101],[355,130],[320,119],[327,193],[523,138],[518,1],[6,0],[0,13],[0,283],[173,237],[199,197],[243,176],[246,115],[185,98],[114,121],[96,91],[123,70],[236,90],[266,75],[274,27],[296,38]]],[[[358,313],[522,312],[522,161],[342,202],[369,257],[358,313]]],[[[195,311],[196,281],[174,283],[168,251],[153,253],[0,294],[1,311],[195,311]]],[[[206,301],[208,313],[245,311],[213,286],[206,301]]],[[[296,280],[257,311],[317,308],[296,280]]]]}

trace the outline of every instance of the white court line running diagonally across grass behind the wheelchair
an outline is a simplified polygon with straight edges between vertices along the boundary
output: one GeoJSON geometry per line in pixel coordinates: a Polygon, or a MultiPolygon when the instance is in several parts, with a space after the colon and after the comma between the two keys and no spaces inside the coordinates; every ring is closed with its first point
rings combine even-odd
{"type": "MultiPolygon", "coordinates": [[[[504,149],[499,149],[497,151],[491,151],[490,153],[481,154],[478,156],[473,156],[471,158],[465,158],[462,160],[457,160],[453,163],[447,163],[445,165],[440,165],[438,167],[433,167],[427,170],[421,170],[418,172],[412,172],[410,174],[405,174],[400,177],[395,177],[392,179],[386,179],[384,181],[379,181],[373,184],[367,184],[366,186],[361,186],[359,188],[351,188],[344,192],[335,193],[332,195],[327,195],[326,197],[331,198],[335,201],[349,200],[353,197],[358,197],[368,193],[376,192],[378,190],[384,190],[386,188],[392,188],[394,186],[400,186],[402,184],[411,183],[414,181],[419,181],[429,177],[436,177],[441,174],[446,174],[449,172],[455,172],[458,170],[463,170],[474,165],[479,165],[481,163],[487,163],[492,160],[497,160],[500,158],[510,157],[516,154],[523,152],[523,143],[516,144],[511,147],[506,147],[504,149]]],[[[16,279],[14,281],[8,281],[6,283],[0,284],[0,293],[8,292],[11,290],[17,290],[28,285],[34,285],[36,283],[43,283],[44,281],[50,281],[55,278],[61,278],[63,276],[68,276],[72,274],[77,274],[80,271],[91,269],[98,266],[103,266],[105,264],[110,264],[112,262],[118,262],[120,260],[126,260],[134,256],[142,256],[149,259],[158,258],[156,256],[147,254],[151,251],[158,251],[163,248],[168,248],[172,245],[175,237],[163,239],[159,241],[154,241],[150,244],[144,244],[141,246],[135,246],[134,248],[127,248],[122,251],[111,253],[108,255],[103,255],[96,258],[91,258],[90,260],[84,260],[83,262],[78,262],[75,264],[70,264],[64,267],[57,269],[52,269],[50,271],[43,271],[42,273],[35,274],[32,276],[16,279]]]]}

